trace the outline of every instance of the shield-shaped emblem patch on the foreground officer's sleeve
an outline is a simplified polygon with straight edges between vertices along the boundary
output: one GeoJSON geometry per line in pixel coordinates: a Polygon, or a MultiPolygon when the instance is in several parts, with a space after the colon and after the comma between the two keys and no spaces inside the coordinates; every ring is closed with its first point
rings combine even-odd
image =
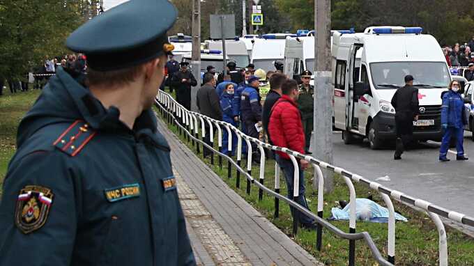
{"type": "Polygon", "coordinates": [[[20,191],[15,211],[15,225],[24,234],[38,230],[47,221],[53,203],[51,189],[40,186],[26,186],[20,191]]]}

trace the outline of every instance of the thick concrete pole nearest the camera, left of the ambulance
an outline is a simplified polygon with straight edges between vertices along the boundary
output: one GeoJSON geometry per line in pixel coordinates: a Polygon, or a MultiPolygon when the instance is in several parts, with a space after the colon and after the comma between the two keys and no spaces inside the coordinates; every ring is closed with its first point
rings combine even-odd
{"type": "MultiPolygon", "coordinates": [[[[317,159],[332,164],[332,95],[330,53],[330,0],[314,1],[314,137],[312,152],[317,159]]],[[[333,189],[333,174],[323,170],[324,189],[333,189]]]]}

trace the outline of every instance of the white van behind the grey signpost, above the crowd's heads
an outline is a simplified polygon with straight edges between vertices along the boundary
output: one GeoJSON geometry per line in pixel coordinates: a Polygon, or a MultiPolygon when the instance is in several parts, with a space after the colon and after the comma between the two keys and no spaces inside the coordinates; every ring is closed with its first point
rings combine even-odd
{"type": "MultiPolygon", "coordinates": [[[[222,40],[206,40],[205,49],[221,50],[222,40]]],[[[238,68],[245,68],[250,62],[250,56],[247,53],[247,47],[243,40],[238,38],[225,41],[225,50],[227,56],[236,62],[238,68]]]]}

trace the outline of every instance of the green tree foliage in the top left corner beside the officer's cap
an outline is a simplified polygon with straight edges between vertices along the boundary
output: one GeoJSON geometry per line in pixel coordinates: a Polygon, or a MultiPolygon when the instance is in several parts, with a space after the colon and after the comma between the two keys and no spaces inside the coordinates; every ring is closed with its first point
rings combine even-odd
{"type": "Polygon", "coordinates": [[[0,6],[0,77],[25,79],[31,68],[43,65],[45,56],[65,54],[67,36],[82,22],[78,1],[4,0],[0,6]]]}

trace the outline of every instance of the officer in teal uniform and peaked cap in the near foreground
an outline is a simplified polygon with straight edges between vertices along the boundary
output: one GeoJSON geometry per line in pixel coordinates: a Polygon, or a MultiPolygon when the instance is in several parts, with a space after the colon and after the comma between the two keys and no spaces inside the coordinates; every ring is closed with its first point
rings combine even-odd
{"type": "Polygon", "coordinates": [[[69,36],[88,58],[89,88],[59,68],[21,121],[0,265],[196,264],[151,109],[176,15],[169,1],[132,0],[69,36]]]}

